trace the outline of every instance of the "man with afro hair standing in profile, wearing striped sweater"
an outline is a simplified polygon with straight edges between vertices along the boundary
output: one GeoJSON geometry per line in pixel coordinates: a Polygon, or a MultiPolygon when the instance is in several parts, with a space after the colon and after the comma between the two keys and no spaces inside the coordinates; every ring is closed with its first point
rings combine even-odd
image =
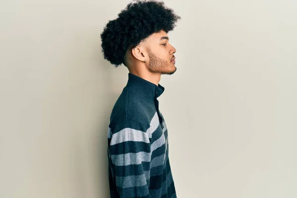
{"type": "Polygon", "coordinates": [[[111,198],[176,198],[168,157],[168,132],[157,98],[162,74],[176,71],[168,31],[180,16],[163,2],[129,3],[101,34],[104,58],[128,68],[128,82],[108,126],[111,198]]]}

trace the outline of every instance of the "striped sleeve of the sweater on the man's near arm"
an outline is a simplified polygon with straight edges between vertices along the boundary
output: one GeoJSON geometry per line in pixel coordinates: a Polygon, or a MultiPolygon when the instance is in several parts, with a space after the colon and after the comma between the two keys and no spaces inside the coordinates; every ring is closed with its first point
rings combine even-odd
{"type": "Polygon", "coordinates": [[[145,126],[124,119],[108,131],[111,198],[150,198],[150,137],[145,126]]]}

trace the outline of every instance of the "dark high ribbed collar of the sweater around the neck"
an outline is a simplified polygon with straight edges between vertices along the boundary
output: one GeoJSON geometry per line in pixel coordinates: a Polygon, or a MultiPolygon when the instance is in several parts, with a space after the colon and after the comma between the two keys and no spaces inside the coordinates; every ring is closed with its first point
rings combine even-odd
{"type": "Polygon", "coordinates": [[[160,84],[156,86],[155,84],[129,72],[128,82],[123,90],[137,93],[141,98],[154,103],[154,100],[163,94],[165,88],[160,84]]]}

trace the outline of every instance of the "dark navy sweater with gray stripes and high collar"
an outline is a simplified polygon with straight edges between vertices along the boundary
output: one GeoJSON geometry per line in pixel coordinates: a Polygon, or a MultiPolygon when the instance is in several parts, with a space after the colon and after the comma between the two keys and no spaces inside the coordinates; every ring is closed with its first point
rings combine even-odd
{"type": "Polygon", "coordinates": [[[110,198],[176,198],[168,132],[157,98],[164,87],[128,73],[111,111],[108,140],[110,198]]]}

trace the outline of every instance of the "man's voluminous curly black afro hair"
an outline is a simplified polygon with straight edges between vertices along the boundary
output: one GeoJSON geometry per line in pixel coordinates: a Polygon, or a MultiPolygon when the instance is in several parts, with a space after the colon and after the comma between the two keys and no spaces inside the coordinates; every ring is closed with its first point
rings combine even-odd
{"type": "Polygon", "coordinates": [[[172,31],[180,16],[176,15],[164,2],[136,0],[121,10],[118,18],[108,20],[101,33],[101,47],[104,59],[115,67],[126,64],[126,51],[145,41],[153,33],[172,31]]]}

